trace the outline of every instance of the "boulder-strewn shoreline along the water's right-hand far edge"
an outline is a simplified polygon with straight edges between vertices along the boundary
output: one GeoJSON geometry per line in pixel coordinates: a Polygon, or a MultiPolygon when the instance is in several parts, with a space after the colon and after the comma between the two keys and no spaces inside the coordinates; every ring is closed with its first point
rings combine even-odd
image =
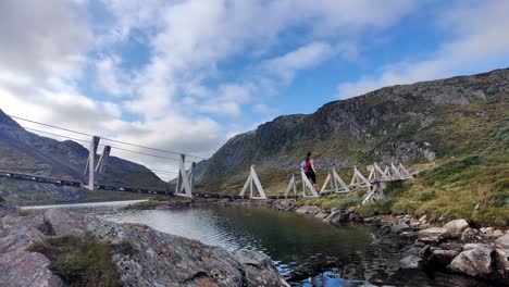
{"type": "MultiPolygon", "coordinates": [[[[380,226],[374,245],[396,246],[400,251],[401,269],[421,269],[426,272],[463,275],[487,284],[509,286],[509,229],[475,228],[464,220],[444,225],[430,223],[427,216],[374,216],[362,219],[356,208],[324,210],[315,205],[296,205],[293,199],[195,201],[188,205],[207,203],[249,205],[296,212],[320,219],[333,225],[348,223],[380,226]]],[[[172,204],[170,204],[172,205],[172,204]]],[[[164,207],[158,207],[164,209],[164,207]]]]}

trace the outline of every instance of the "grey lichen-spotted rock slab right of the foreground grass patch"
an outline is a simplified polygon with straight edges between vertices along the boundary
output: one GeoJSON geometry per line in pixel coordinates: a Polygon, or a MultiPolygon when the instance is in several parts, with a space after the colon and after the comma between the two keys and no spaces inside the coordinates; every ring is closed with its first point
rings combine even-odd
{"type": "Polygon", "coordinates": [[[116,224],[86,216],[87,230],[124,246],[112,261],[128,286],[287,286],[269,258],[157,232],[138,224],[116,224]]]}

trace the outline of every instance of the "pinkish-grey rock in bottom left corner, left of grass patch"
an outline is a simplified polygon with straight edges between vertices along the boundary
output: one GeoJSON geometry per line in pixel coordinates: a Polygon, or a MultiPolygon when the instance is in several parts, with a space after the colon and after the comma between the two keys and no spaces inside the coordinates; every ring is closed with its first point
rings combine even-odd
{"type": "Polygon", "coordinates": [[[15,250],[0,255],[0,285],[10,287],[60,287],[63,282],[48,269],[42,254],[15,250]]]}

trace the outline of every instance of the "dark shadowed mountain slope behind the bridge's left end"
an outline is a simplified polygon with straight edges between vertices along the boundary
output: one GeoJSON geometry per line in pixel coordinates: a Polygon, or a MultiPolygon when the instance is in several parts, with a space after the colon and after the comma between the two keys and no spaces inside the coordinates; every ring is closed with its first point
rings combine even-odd
{"type": "MultiPolygon", "coordinates": [[[[99,158],[99,154],[96,157],[99,158]]],[[[0,110],[0,170],[86,182],[88,150],[82,145],[41,137],[24,129],[0,110]]],[[[144,165],[110,157],[97,182],[115,186],[165,189],[166,184],[144,165]]],[[[82,188],[0,179],[0,195],[17,202],[86,200],[82,188]]]]}

